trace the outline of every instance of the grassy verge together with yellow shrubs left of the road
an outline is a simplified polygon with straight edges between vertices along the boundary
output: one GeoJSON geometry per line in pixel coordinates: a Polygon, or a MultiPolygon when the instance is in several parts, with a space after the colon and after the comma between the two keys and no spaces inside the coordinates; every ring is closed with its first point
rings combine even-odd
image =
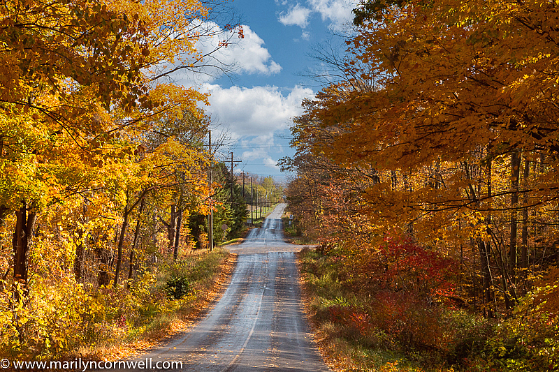
{"type": "Polygon", "coordinates": [[[131,357],[187,330],[226,287],[236,255],[223,248],[159,262],[130,283],[101,288],[36,283],[20,309],[24,343],[0,334],[0,357],[19,360],[116,360],[131,357]],[[44,300],[43,300],[44,299],[44,300]],[[41,301],[40,301],[41,300],[41,301]]]}

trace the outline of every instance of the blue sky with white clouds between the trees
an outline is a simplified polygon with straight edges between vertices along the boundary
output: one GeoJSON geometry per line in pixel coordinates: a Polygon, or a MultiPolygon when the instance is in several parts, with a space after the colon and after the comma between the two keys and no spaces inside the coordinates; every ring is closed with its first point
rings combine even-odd
{"type": "MultiPolygon", "coordinates": [[[[317,83],[298,75],[317,66],[308,57],[313,45],[347,34],[351,9],[357,0],[233,0],[229,5],[240,17],[245,38],[238,39],[216,54],[234,63],[231,77],[196,78],[196,85],[210,91],[205,110],[215,122],[212,137],[226,133],[222,158],[233,151],[235,172],[245,171],[278,180],[277,160],[291,156],[289,126],[302,113],[300,103],[317,93],[317,83]]],[[[217,25],[216,25],[217,27],[217,25]]],[[[340,39],[341,40],[341,39],[340,39]]],[[[200,48],[210,49],[217,40],[205,40],[200,48]]],[[[182,84],[191,80],[177,77],[182,84]],[[182,80],[182,81],[180,81],[182,80]]],[[[191,83],[192,84],[192,83],[191,83]]]]}

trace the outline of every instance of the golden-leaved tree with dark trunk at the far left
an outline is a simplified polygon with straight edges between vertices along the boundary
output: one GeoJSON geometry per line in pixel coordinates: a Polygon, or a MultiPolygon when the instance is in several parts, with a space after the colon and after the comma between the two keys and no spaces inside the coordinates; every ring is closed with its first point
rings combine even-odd
{"type": "MultiPolygon", "coordinates": [[[[99,1],[3,1],[0,9],[0,154],[8,186],[0,209],[17,216],[14,278],[27,288],[37,212],[80,183],[78,167],[66,167],[60,156],[77,150],[79,163],[99,161],[96,151],[115,138],[106,110],[117,105],[130,112],[146,91],[139,82],[145,57],[131,53],[145,39],[138,16],[99,1]],[[78,177],[71,184],[68,172],[78,177]]],[[[131,150],[121,144],[115,151],[131,150]]]]}

